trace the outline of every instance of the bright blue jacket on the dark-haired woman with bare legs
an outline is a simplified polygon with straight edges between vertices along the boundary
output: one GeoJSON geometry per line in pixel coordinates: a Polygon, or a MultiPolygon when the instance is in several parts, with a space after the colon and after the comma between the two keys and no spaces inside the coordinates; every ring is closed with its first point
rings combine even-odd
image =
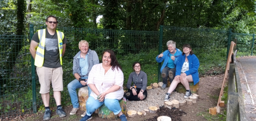
{"type": "MultiPolygon", "coordinates": [[[[180,55],[177,65],[176,65],[176,73],[175,76],[180,75],[181,68],[183,63],[185,62],[185,54],[182,56],[180,55]]],[[[187,75],[192,75],[194,85],[199,82],[199,76],[198,76],[198,68],[199,68],[199,60],[198,58],[193,54],[187,56],[189,60],[189,70],[185,71],[187,75]]]]}

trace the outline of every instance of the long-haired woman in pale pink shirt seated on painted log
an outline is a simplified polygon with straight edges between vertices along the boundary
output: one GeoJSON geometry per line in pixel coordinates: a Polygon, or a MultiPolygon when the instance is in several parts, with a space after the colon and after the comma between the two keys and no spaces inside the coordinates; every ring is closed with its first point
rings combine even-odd
{"type": "Polygon", "coordinates": [[[104,51],[101,57],[102,63],[92,67],[87,79],[92,92],[86,101],[86,115],[80,121],[91,119],[91,114],[103,104],[117,114],[121,121],[127,121],[119,104],[124,95],[122,68],[112,50],[104,51]]]}

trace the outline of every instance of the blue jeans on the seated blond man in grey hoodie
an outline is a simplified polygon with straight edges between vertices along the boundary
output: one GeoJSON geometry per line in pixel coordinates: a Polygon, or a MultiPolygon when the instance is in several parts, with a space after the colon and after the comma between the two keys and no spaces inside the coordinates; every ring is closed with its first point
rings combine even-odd
{"type": "MultiPolygon", "coordinates": [[[[82,79],[87,79],[88,77],[81,77],[82,79]]],[[[76,89],[85,87],[87,85],[82,85],[77,79],[73,80],[67,85],[67,89],[69,92],[69,95],[71,97],[71,103],[73,105],[73,108],[78,108],[79,103],[78,103],[78,97],[76,93],[76,89]]],[[[91,89],[88,86],[88,96],[91,94],[91,89]]]]}

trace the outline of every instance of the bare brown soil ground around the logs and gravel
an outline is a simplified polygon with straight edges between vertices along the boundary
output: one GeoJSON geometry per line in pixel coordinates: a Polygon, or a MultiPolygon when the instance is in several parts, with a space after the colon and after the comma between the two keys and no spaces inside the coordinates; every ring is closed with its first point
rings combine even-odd
{"type": "MultiPolygon", "coordinates": [[[[180,110],[184,111],[186,114],[184,113],[178,116],[178,114],[176,115],[171,114],[173,110],[169,110],[165,108],[160,109],[159,113],[162,113],[162,114],[169,113],[173,117],[176,117],[172,119],[172,121],[175,121],[175,120],[178,121],[179,120],[178,118],[180,118],[182,121],[205,121],[205,120],[207,121],[207,119],[205,118],[205,115],[208,114],[209,108],[215,107],[217,105],[223,77],[224,77],[224,74],[217,75],[217,76],[213,75],[213,76],[201,77],[199,81],[199,99],[197,100],[197,103],[193,105],[181,106],[179,108],[180,110]]],[[[164,102],[164,99],[162,100],[164,102]]],[[[56,107],[52,107],[52,108],[55,109],[56,107]]],[[[221,109],[220,113],[224,114],[223,113],[224,108],[221,109]]],[[[79,110],[76,115],[69,115],[69,112],[72,110],[72,105],[63,106],[63,109],[67,114],[66,117],[60,118],[59,116],[56,115],[56,112],[53,112],[52,119],[50,119],[49,121],[79,121],[81,119],[81,114],[83,114],[83,111],[79,110]]],[[[38,112],[37,114],[27,114],[25,116],[23,115],[23,116],[8,118],[8,119],[1,119],[1,121],[2,120],[42,121],[43,115],[44,115],[43,112],[38,112]]],[[[155,116],[158,116],[158,114],[147,113],[145,116],[136,115],[135,117],[132,117],[132,118],[127,116],[127,120],[128,121],[152,121],[152,118],[154,118],[155,116]]],[[[218,117],[216,118],[216,120],[217,119],[222,120],[221,118],[218,118],[218,117]]],[[[107,120],[101,119],[100,117],[98,117],[97,114],[94,114],[91,121],[107,121],[107,120]]],[[[113,121],[120,121],[120,119],[116,119],[113,121]]]]}

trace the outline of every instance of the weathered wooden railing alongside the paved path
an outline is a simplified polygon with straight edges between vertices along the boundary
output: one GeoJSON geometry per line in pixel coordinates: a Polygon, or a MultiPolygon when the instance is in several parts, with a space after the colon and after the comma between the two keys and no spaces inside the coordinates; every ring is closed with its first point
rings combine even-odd
{"type": "Polygon", "coordinates": [[[236,63],[236,52],[237,50],[234,52],[233,63],[229,64],[227,121],[247,121],[244,111],[242,87],[236,63]]]}

